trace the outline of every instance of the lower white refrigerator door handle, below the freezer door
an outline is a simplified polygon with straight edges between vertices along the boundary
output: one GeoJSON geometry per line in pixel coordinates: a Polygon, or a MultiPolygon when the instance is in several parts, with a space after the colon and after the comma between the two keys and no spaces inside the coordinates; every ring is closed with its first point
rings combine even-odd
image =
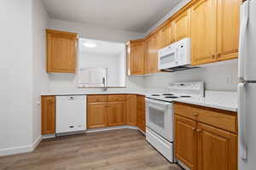
{"type": "Polygon", "coordinates": [[[244,92],[245,92],[246,84],[241,82],[238,85],[238,94],[239,94],[239,105],[238,105],[238,127],[239,127],[239,156],[242,160],[247,161],[247,140],[246,140],[246,127],[245,127],[245,100],[244,100],[244,92]]]}

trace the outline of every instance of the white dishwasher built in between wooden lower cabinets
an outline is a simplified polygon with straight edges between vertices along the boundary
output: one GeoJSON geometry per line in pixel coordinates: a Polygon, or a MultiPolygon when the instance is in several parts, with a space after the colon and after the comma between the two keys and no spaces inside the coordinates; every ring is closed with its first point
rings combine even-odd
{"type": "Polygon", "coordinates": [[[56,133],[86,130],[86,96],[56,96],[56,133]]]}

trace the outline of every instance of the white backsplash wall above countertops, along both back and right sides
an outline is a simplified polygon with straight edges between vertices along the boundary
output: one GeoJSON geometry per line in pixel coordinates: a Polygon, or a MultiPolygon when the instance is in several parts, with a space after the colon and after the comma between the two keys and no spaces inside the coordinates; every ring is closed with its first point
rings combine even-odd
{"type": "MultiPolygon", "coordinates": [[[[173,73],[163,72],[145,77],[126,77],[125,88],[109,88],[108,91],[166,88],[170,82],[206,82],[206,90],[236,91],[237,62],[196,68],[173,73]]],[[[74,74],[49,74],[48,91],[52,92],[102,92],[102,88],[78,88],[74,74]]]]}

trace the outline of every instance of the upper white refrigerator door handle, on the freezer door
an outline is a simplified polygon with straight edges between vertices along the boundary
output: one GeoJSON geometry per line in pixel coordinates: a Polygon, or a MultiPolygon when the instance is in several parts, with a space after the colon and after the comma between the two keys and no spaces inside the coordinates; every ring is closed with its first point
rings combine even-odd
{"type": "Polygon", "coordinates": [[[249,19],[249,1],[242,3],[241,5],[241,26],[240,26],[240,36],[239,36],[239,54],[238,54],[238,77],[241,81],[244,79],[244,65],[246,59],[246,32],[247,23],[249,19]]]}

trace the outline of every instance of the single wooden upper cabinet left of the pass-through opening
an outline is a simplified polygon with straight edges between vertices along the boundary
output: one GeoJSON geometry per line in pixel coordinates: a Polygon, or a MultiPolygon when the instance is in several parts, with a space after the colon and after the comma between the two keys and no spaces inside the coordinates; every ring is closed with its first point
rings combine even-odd
{"type": "Polygon", "coordinates": [[[78,34],[46,30],[47,72],[74,73],[76,71],[78,34]]]}

